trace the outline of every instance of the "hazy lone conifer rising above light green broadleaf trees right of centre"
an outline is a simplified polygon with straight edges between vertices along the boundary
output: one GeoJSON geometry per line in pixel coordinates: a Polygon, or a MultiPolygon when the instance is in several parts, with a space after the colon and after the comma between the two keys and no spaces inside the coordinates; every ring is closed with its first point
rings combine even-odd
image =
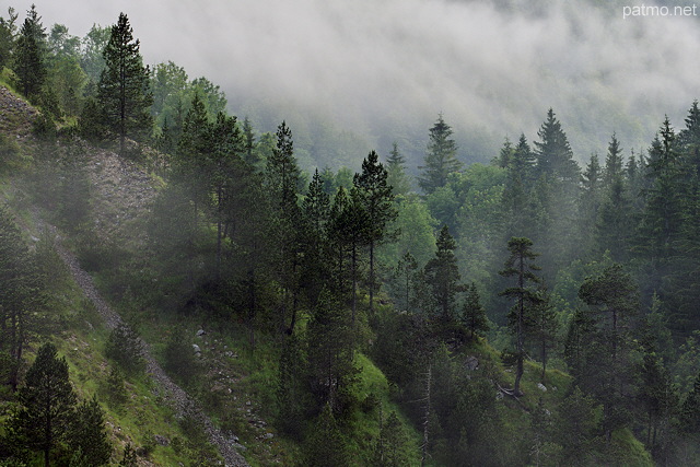
{"type": "Polygon", "coordinates": [[[430,129],[425,165],[419,167],[423,174],[418,177],[418,185],[425,195],[445,186],[447,176],[462,168],[462,162],[457,159],[457,144],[450,138],[451,136],[452,127],[445,124],[440,114],[438,121],[430,129]]]}

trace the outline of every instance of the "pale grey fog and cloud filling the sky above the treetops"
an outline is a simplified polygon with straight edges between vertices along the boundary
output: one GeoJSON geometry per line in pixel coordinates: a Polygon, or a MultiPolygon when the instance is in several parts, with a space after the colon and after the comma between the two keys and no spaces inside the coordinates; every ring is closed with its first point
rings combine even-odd
{"type": "MultiPolygon", "coordinates": [[[[623,20],[621,7],[552,2],[524,15],[446,0],[35,3],[45,25],[79,36],[124,11],[147,62],[206,75],[234,105],[323,109],[360,133],[393,119],[427,132],[442,112],[462,138],[488,127],[533,140],[553,107],[587,157],[612,131],[629,149],[665,114],[680,126],[700,95],[698,19],[623,20]]],[[[21,19],[28,9],[12,5],[21,19]]]]}

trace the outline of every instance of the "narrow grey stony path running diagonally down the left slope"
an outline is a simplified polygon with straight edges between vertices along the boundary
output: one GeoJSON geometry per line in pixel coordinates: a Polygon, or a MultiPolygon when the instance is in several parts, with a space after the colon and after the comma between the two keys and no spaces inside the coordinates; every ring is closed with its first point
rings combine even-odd
{"type": "MultiPolygon", "coordinates": [[[[121,317],[102,299],[92,277],[80,267],[75,256],[62,246],[60,237],[58,236],[56,250],[70,269],[70,273],[75,280],[75,283],[78,283],[85,296],[92,301],[100,315],[104,318],[107,328],[114,329],[122,323],[121,317]]],[[[166,394],[165,400],[173,406],[177,415],[191,417],[203,427],[209,436],[209,441],[219,448],[228,467],[247,467],[248,464],[243,456],[233,447],[235,437],[225,436],[214,427],[211,419],[201,410],[201,407],[165,374],[161,365],[153,358],[149,345],[145,341],[141,341],[141,343],[143,346],[148,374],[163,388],[166,394]]]]}

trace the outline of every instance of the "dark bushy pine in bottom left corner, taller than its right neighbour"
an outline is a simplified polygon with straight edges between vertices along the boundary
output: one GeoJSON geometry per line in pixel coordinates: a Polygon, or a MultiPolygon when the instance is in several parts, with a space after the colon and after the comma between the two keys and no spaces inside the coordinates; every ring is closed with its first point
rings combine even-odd
{"type": "Polygon", "coordinates": [[[39,348],[18,401],[20,410],[9,423],[11,436],[18,445],[43,452],[48,467],[51,450],[69,433],[77,401],[66,358],[58,358],[52,343],[39,348]]]}

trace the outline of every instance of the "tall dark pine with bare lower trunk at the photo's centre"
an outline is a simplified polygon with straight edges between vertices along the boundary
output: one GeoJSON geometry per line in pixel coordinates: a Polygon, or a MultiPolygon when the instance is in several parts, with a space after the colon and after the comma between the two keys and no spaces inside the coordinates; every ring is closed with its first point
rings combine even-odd
{"type": "Polygon", "coordinates": [[[353,185],[358,188],[361,202],[368,215],[366,242],[370,247],[370,311],[374,310],[375,288],[375,248],[387,235],[387,226],[396,219],[398,211],[394,206],[388,174],[378,162],[378,155],[372,151],[362,161],[362,172],[355,174],[353,185]]]}

